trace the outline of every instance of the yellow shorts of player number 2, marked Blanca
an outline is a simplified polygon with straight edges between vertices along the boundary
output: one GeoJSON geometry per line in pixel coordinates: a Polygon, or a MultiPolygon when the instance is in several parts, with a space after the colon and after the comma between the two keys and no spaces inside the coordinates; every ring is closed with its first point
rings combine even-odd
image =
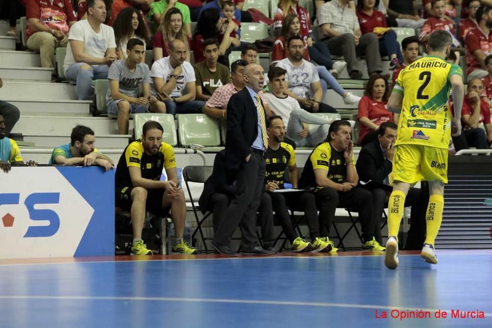
{"type": "Polygon", "coordinates": [[[448,183],[448,149],[422,145],[395,146],[391,180],[410,184],[433,180],[448,183]]]}

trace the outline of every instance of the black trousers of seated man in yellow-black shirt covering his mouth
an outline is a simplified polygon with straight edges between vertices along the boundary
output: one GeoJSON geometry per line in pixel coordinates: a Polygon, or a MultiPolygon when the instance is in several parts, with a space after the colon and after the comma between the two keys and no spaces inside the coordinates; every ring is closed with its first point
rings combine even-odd
{"type": "Polygon", "coordinates": [[[372,214],[372,195],[362,188],[353,188],[347,192],[338,192],[335,189],[324,187],[314,190],[319,217],[324,218],[320,225],[321,236],[330,236],[330,227],[335,219],[337,208],[350,209],[359,213],[364,242],[374,237],[374,218],[372,214]]]}

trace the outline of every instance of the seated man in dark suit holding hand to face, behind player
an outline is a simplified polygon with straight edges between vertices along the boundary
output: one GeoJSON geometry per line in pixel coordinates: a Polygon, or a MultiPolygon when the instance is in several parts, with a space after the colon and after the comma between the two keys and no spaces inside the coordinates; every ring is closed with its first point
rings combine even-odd
{"type": "MultiPolygon", "coordinates": [[[[398,126],[392,122],[385,122],[379,126],[378,140],[370,142],[361,149],[357,159],[357,173],[360,181],[369,182],[361,185],[372,192],[373,210],[375,218],[374,237],[382,243],[381,216],[388,207],[387,198],[392,188],[389,184],[389,174],[393,169],[393,144],[397,136],[398,126]]],[[[405,207],[411,206],[410,230],[405,249],[422,249],[426,236],[425,215],[429,201],[428,188],[410,188],[405,198],[405,207]]]]}

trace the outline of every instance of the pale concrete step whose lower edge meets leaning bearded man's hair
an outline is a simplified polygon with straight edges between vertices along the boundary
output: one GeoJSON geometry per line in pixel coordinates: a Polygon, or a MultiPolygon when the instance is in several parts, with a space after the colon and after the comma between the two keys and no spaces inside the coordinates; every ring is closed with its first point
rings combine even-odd
{"type": "MultiPolygon", "coordinates": [[[[130,131],[133,130],[133,119],[130,119],[130,131]]],[[[62,117],[62,116],[29,116],[21,115],[12,129],[14,134],[60,134],[69,135],[75,125],[90,127],[95,136],[118,134],[116,119],[93,117],[62,117]]]]}

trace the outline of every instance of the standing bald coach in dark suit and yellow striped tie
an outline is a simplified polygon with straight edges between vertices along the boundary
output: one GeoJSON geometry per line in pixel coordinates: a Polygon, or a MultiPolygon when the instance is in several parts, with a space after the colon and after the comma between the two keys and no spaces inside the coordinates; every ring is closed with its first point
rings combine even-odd
{"type": "Polygon", "coordinates": [[[270,255],[275,251],[263,249],[256,233],[256,210],[265,179],[263,153],[268,145],[266,112],[258,95],[265,72],[261,65],[249,64],[244,79],[246,87],[233,94],[227,103],[225,167],[228,182],[236,181],[236,194],[219,223],[212,246],[221,254],[237,255],[229,246],[241,224],[243,252],[270,255]]]}

